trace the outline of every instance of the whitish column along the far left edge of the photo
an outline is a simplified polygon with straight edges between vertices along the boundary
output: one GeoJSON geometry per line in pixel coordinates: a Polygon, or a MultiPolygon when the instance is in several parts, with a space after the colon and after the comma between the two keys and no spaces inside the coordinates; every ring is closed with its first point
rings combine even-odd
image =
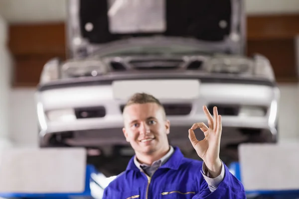
{"type": "Polygon", "coordinates": [[[11,59],[7,49],[6,21],[0,15],[0,149],[11,147],[9,139],[9,93],[11,59]]]}

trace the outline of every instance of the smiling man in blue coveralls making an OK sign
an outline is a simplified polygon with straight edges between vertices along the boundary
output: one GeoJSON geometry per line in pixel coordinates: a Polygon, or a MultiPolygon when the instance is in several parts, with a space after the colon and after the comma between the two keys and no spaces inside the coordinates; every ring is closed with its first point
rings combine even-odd
{"type": "Polygon", "coordinates": [[[136,155],[105,189],[103,199],[246,199],[243,185],[219,158],[221,116],[216,107],[214,118],[206,106],[203,110],[209,127],[201,122],[188,130],[202,162],[169,146],[170,123],[159,100],[144,93],[132,96],[124,108],[123,132],[136,155]],[[205,135],[201,141],[196,128],[205,135]]]}

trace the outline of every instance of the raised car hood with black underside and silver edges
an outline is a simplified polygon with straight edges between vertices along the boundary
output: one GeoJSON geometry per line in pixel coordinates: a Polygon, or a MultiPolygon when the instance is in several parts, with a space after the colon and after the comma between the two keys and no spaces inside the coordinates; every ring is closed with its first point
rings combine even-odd
{"type": "Polygon", "coordinates": [[[184,37],[244,54],[244,0],[68,0],[68,55],[112,41],[184,37]]]}

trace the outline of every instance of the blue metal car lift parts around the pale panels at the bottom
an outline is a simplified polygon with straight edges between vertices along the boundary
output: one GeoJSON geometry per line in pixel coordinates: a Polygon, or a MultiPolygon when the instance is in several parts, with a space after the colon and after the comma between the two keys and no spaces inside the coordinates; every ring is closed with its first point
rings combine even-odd
{"type": "MultiPolygon", "coordinates": [[[[230,172],[242,182],[240,175],[240,165],[234,162],[229,165],[230,172]]],[[[51,193],[51,194],[30,194],[30,193],[0,193],[0,197],[4,199],[99,199],[95,198],[92,194],[91,183],[96,184],[100,190],[104,190],[92,178],[92,174],[99,174],[93,165],[87,165],[86,167],[86,180],[85,190],[82,193],[51,193]]],[[[246,192],[248,199],[298,199],[299,190],[290,191],[250,191],[246,192]]]]}

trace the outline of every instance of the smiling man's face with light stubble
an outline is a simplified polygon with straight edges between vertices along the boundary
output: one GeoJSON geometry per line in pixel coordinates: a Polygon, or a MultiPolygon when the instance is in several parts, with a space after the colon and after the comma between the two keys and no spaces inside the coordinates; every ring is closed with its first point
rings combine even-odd
{"type": "Polygon", "coordinates": [[[127,106],[124,110],[124,122],[124,135],[136,152],[150,155],[168,149],[170,123],[158,104],[127,106]]]}

